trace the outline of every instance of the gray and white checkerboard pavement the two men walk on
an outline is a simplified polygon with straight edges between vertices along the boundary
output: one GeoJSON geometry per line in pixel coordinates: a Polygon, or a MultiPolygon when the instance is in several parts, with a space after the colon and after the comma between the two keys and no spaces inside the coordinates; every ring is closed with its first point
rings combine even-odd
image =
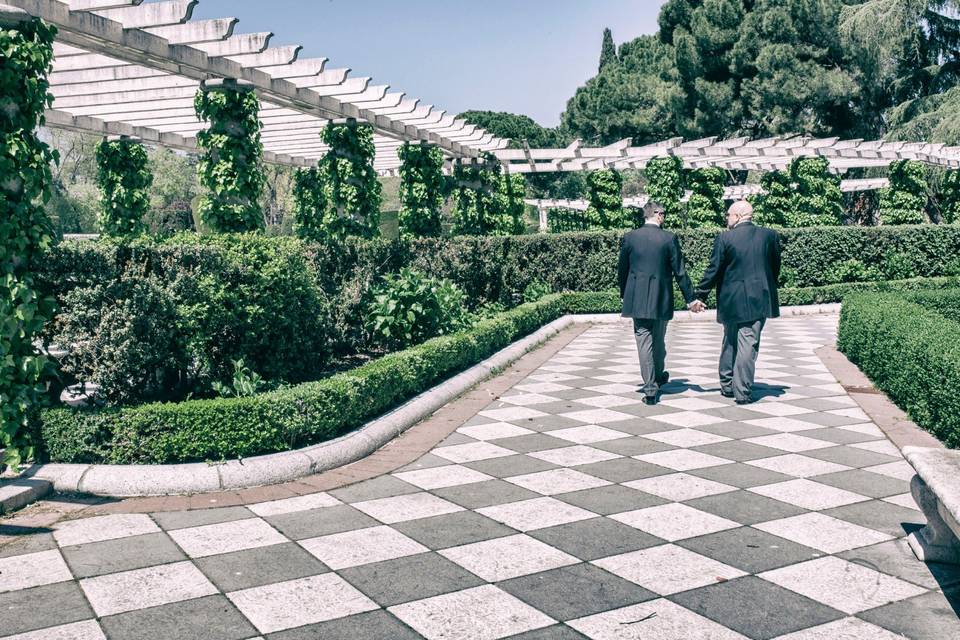
{"type": "Polygon", "coordinates": [[[717,325],[672,324],[654,407],[629,327],[596,325],[392,474],[61,522],[0,549],[0,634],[960,638],[960,570],[903,539],[909,465],[815,353],[836,321],[771,322],[750,406],[717,325]]]}

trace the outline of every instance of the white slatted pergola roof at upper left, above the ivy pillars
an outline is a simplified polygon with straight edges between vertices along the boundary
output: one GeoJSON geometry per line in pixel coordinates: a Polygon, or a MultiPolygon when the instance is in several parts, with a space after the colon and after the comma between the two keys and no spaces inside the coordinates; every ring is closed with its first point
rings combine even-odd
{"type": "Polygon", "coordinates": [[[418,98],[390,91],[326,58],[301,58],[300,45],[273,46],[273,34],[241,33],[236,18],[192,20],[199,0],[4,0],[55,25],[49,76],[54,128],[126,135],[194,151],[193,98],[201,82],[231,78],[253,86],[261,101],[264,157],[312,166],[327,151],[320,132],[330,121],[373,126],[381,172],[399,166],[405,142],[437,145],[448,159],[477,158],[507,140],[418,98]]]}

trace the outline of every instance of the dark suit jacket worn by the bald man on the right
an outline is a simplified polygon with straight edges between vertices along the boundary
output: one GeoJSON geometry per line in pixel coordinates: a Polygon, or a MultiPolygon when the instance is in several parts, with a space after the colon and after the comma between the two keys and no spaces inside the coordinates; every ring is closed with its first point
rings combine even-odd
{"type": "Polygon", "coordinates": [[[780,238],[770,229],[741,222],[713,243],[710,266],[697,286],[706,300],[717,288],[717,321],[753,322],[780,317],[777,281],[780,278],[780,238]]]}

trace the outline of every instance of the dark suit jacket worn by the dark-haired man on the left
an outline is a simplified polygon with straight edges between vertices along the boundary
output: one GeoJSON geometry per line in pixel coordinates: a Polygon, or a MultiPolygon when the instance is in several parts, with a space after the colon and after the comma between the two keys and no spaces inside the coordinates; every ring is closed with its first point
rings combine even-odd
{"type": "Polygon", "coordinates": [[[656,225],[645,225],[624,236],[617,277],[625,318],[673,318],[674,279],[687,304],[694,299],[680,241],[656,225]]]}

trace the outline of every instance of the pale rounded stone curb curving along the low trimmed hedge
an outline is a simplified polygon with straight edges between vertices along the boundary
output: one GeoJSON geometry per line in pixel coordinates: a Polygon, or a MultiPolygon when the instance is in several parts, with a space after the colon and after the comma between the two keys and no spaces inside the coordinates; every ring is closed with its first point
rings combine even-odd
{"type": "MultiPolygon", "coordinates": [[[[837,313],[840,305],[784,307],[784,317],[837,313]]],[[[678,312],[675,320],[715,320],[715,312],[678,312]]],[[[335,440],[297,451],[285,451],[224,463],[177,465],[46,464],[23,477],[45,480],[57,491],[117,498],[183,495],[228,491],[289,482],[329,471],[364,458],[422,421],[445,404],[573,324],[627,322],[617,314],[567,315],[498,351],[470,369],[409,400],[393,411],[335,440]]]]}

